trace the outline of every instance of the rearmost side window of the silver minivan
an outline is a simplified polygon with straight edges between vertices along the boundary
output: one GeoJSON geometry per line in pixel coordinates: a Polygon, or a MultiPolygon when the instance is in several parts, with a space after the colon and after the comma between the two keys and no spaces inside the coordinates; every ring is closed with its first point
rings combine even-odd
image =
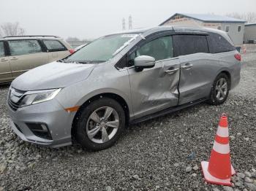
{"type": "Polygon", "coordinates": [[[232,44],[230,44],[230,42],[219,34],[210,33],[207,36],[207,39],[211,53],[228,52],[236,49],[232,44]]]}

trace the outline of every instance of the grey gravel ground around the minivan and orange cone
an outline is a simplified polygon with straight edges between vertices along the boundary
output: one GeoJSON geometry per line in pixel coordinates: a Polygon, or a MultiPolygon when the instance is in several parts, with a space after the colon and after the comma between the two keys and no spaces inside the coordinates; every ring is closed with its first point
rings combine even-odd
{"type": "Polygon", "coordinates": [[[1,190],[256,190],[256,47],[243,55],[241,83],[222,106],[198,104],[131,125],[118,143],[100,152],[79,146],[50,149],[21,141],[10,130],[0,87],[1,190]],[[206,184],[220,114],[228,114],[233,187],[206,184]]]}

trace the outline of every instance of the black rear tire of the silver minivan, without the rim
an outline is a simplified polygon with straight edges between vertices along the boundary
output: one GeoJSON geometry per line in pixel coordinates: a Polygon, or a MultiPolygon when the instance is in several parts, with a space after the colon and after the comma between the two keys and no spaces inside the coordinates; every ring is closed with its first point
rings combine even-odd
{"type": "Polygon", "coordinates": [[[227,100],[229,90],[230,90],[230,79],[227,77],[227,74],[220,73],[214,80],[214,84],[211,87],[211,93],[210,93],[210,98],[208,100],[208,104],[211,104],[214,106],[223,104],[227,100]],[[227,93],[225,94],[225,96],[222,97],[222,99],[217,98],[217,89],[216,89],[220,79],[225,79],[225,81],[227,82],[227,93]]]}

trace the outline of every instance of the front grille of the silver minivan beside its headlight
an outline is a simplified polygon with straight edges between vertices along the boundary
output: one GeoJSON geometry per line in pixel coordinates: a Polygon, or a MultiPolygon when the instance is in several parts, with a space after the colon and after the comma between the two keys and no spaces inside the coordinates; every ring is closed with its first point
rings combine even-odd
{"type": "Polygon", "coordinates": [[[24,91],[16,90],[15,88],[10,88],[7,103],[13,111],[16,111],[20,107],[20,102],[23,99],[24,91]],[[11,99],[12,96],[12,99],[11,99]]]}

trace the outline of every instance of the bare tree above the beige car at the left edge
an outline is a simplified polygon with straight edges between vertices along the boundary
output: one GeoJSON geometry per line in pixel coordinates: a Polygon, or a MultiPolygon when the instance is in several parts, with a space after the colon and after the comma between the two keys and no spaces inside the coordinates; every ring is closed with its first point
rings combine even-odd
{"type": "Polygon", "coordinates": [[[25,31],[20,27],[18,22],[16,23],[4,23],[0,28],[1,36],[19,36],[24,35],[25,31]]]}

